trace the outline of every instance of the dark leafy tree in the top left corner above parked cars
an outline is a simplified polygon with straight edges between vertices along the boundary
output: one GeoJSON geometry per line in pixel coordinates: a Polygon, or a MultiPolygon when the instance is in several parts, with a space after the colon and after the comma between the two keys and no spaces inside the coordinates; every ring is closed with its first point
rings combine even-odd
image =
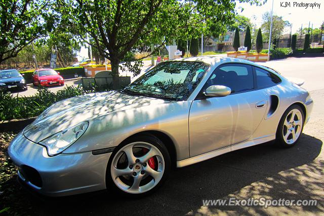
{"type": "Polygon", "coordinates": [[[0,64],[52,30],[56,15],[50,7],[46,0],[0,1],[0,64]]]}

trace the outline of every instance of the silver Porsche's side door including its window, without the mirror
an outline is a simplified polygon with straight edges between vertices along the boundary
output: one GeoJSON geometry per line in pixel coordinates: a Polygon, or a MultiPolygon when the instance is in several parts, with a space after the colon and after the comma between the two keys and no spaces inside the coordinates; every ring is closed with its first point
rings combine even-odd
{"type": "Polygon", "coordinates": [[[212,73],[189,112],[190,157],[248,140],[264,117],[267,97],[255,91],[248,64],[223,64],[212,73]],[[207,97],[211,85],[225,85],[231,94],[207,97]]]}

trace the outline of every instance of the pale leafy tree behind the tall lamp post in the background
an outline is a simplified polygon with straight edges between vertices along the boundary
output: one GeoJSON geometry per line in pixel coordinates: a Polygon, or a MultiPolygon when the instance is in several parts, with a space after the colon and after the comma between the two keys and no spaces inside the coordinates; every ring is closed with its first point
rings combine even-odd
{"type": "MultiPolygon", "coordinates": [[[[269,12],[266,12],[262,15],[262,32],[263,37],[265,38],[265,41],[269,40],[269,34],[270,34],[270,22],[271,22],[271,14],[269,12]]],[[[281,17],[278,16],[272,16],[272,38],[279,38],[282,33],[284,32],[284,29],[286,26],[290,25],[288,21],[284,21],[281,17]]]]}

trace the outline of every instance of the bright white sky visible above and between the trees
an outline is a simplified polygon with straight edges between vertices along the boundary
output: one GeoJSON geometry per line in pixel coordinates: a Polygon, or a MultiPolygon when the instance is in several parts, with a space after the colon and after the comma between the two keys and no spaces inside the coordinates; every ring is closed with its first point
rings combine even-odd
{"type": "MultiPolygon", "coordinates": [[[[280,16],[285,21],[289,21],[293,24],[292,33],[296,33],[298,29],[308,27],[310,22],[310,27],[313,24],[313,28],[320,28],[320,25],[324,21],[324,1],[323,0],[273,0],[273,15],[280,16]],[[285,2],[284,2],[285,1],[285,2]],[[314,1],[314,2],[312,2],[314,1]],[[290,3],[290,6],[286,6],[286,2],[290,3]],[[298,5],[295,3],[316,3],[320,4],[316,5],[313,8],[308,7],[297,7],[298,5]]],[[[262,23],[262,14],[265,12],[270,12],[272,6],[272,0],[267,0],[267,2],[262,6],[251,6],[249,3],[238,3],[236,5],[236,11],[239,15],[246,16],[251,19],[251,21],[257,25],[257,27],[261,26],[262,23]],[[244,10],[241,12],[241,8],[244,10]]],[[[289,28],[285,29],[285,33],[289,33],[289,28]]],[[[78,59],[82,60],[83,58],[88,58],[88,49],[82,47],[79,52],[78,59]]]]}

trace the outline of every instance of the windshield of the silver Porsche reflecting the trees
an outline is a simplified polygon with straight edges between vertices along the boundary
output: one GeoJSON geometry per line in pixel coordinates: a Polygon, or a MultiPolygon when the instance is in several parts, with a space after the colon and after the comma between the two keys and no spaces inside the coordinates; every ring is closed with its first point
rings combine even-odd
{"type": "Polygon", "coordinates": [[[128,85],[123,92],[148,97],[186,100],[209,69],[203,62],[160,63],[128,85]]]}

